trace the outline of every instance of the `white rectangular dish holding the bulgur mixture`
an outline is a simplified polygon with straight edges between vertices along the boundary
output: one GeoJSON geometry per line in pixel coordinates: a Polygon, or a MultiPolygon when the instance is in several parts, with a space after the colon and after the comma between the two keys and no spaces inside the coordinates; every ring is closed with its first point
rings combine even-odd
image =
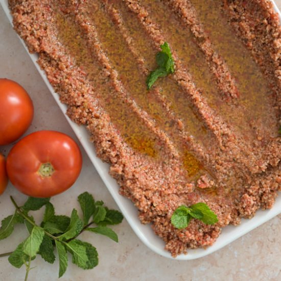
{"type": "MultiPolygon", "coordinates": [[[[279,16],[281,18],[281,13],[279,12],[276,4],[273,2],[275,10],[279,13],[279,16]]],[[[7,0],[0,0],[0,4],[2,5],[8,19],[10,20],[12,24],[12,17],[10,15],[10,11],[8,8],[7,0]]],[[[20,38],[19,38],[20,39],[20,38]]],[[[27,47],[25,45],[25,42],[20,39],[22,44],[24,45],[25,49],[27,50],[27,47]]],[[[28,50],[27,50],[28,52],[28,50]]],[[[38,56],[37,54],[29,54],[32,61],[34,62],[38,72],[40,73],[42,79],[50,89],[50,92],[52,93],[54,99],[56,100],[58,106],[62,110],[62,112],[65,114],[66,112],[66,105],[62,104],[59,101],[59,96],[57,93],[55,93],[54,89],[52,88],[51,84],[49,83],[48,79],[46,78],[45,73],[40,69],[39,65],[37,64],[38,56]]],[[[121,196],[119,194],[119,185],[116,183],[116,181],[108,174],[109,171],[109,165],[107,163],[104,163],[102,160],[100,160],[95,152],[95,148],[93,147],[92,143],[89,142],[89,135],[84,127],[78,126],[77,124],[73,123],[67,115],[65,114],[65,117],[73,128],[74,132],[76,133],[78,139],[80,140],[82,146],[84,147],[85,151],[87,152],[89,158],[91,159],[93,166],[95,166],[96,170],[98,171],[99,175],[101,176],[102,180],[104,181],[105,185],[107,186],[108,191],[114,198],[115,202],[118,204],[119,208],[121,209],[122,213],[124,214],[126,220],[138,236],[142,242],[148,246],[151,250],[154,252],[165,256],[172,258],[171,254],[164,250],[165,244],[164,242],[157,237],[153,230],[151,229],[150,225],[143,225],[140,223],[138,216],[137,216],[137,209],[134,207],[133,203],[121,196]]],[[[270,210],[262,211],[259,210],[255,217],[251,220],[245,220],[243,219],[241,224],[239,226],[227,226],[223,228],[222,233],[220,237],[217,239],[215,244],[213,246],[208,247],[207,249],[193,249],[189,250],[189,253],[187,255],[181,254],[178,255],[175,259],[176,260],[193,260],[198,259],[199,257],[205,256],[207,254],[213,253],[216,250],[219,250],[220,248],[224,247],[225,245],[231,243],[232,241],[238,239],[239,237],[243,236],[245,233],[251,231],[252,229],[256,228],[257,226],[263,224],[264,222],[270,220],[274,216],[281,213],[281,196],[278,196],[276,199],[276,202],[274,206],[270,210]]]]}

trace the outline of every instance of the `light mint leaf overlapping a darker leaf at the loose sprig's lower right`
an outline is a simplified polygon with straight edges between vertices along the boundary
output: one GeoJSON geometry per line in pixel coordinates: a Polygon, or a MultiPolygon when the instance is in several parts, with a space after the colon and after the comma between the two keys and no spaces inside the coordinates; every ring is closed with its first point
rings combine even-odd
{"type": "Polygon", "coordinates": [[[86,247],[77,242],[76,239],[66,243],[67,250],[72,254],[72,262],[77,266],[86,269],[89,261],[86,247]]]}

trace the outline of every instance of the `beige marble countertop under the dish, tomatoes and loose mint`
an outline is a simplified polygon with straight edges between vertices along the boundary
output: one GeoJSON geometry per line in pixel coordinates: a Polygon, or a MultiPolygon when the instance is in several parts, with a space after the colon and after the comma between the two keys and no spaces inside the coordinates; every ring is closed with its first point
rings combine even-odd
{"type": "MultiPolygon", "coordinates": [[[[281,0],[276,3],[281,8],[281,0]]],[[[35,116],[27,134],[52,129],[77,140],[1,8],[0,77],[17,81],[33,99],[35,116]]],[[[7,155],[10,148],[0,147],[0,152],[7,155]]],[[[52,199],[57,213],[70,215],[72,208],[78,206],[77,196],[84,191],[103,200],[109,207],[117,208],[82,147],[81,150],[84,163],[78,181],[71,189],[52,199]]],[[[19,203],[26,200],[26,196],[9,184],[0,197],[0,220],[13,212],[10,195],[19,203]]],[[[82,270],[69,261],[60,280],[281,280],[281,215],[223,249],[194,261],[173,261],[157,255],[136,237],[125,220],[113,228],[119,235],[119,243],[93,233],[83,233],[82,240],[97,247],[99,265],[92,270],[82,270]]],[[[11,237],[0,241],[0,253],[14,250],[26,237],[25,227],[16,227],[11,237]]],[[[51,265],[38,256],[32,267],[35,268],[30,272],[30,281],[58,279],[57,261],[51,265]]],[[[7,257],[0,258],[0,280],[23,280],[24,276],[24,266],[16,269],[9,264],[7,257]]]]}

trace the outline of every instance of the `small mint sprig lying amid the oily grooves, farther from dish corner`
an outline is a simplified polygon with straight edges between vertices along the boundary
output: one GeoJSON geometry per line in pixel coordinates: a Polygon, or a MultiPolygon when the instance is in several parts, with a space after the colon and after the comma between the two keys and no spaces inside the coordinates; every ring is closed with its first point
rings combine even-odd
{"type": "Polygon", "coordinates": [[[159,77],[166,77],[175,71],[174,60],[169,44],[165,42],[160,45],[160,48],[161,51],[156,54],[156,63],[158,67],[149,74],[146,80],[148,90],[151,89],[159,77]]]}

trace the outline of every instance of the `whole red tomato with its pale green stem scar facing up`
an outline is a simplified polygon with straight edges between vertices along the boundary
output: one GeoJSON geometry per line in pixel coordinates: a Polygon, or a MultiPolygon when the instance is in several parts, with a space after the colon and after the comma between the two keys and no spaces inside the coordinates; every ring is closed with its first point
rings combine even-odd
{"type": "Polygon", "coordinates": [[[32,197],[50,197],[70,188],[82,168],[78,145],[66,134],[38,131],[22,139],[7,157],[12,184],[32,197]]]}

